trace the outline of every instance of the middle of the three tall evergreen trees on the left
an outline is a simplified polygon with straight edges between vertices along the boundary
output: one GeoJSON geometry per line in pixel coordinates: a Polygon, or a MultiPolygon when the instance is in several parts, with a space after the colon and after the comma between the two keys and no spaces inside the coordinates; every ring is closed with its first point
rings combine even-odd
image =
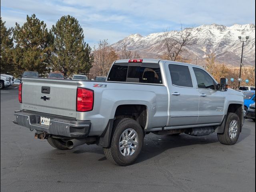
{"type": "Polygon", "coordinates": [[[53,42],[51,32],[48,32],[44,21],[40,21],[33,14],[27,15],[27,21],[20,26],[16,23],[13,37],[16,42],[14,48],[14,64],[17,72],[24,70],[38,71],[45,74],[49,71],[50,45],[53,42]]]}

